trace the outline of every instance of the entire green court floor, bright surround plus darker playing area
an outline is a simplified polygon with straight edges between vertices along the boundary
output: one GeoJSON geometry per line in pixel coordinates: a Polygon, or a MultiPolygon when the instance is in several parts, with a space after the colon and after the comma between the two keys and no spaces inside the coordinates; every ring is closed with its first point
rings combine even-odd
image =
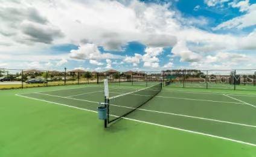
{"type": "MultiPolygon", "coordinates": [[[[110,84],[109,94],[140,88],[110,84]]],[[[256,156],[256,91],[164,87],[107,129],[97,117],[103,91],[97,84],[0,91],[0,156],[256,156]]]]}

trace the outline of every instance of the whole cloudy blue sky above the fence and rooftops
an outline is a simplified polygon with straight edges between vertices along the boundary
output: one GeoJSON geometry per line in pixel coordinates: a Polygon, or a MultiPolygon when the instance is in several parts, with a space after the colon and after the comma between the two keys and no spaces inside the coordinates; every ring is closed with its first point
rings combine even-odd
{"type": "Polygon", "coordinates": [[[256,0],[0,3],[0,68],[256,69],[256,0]]]}

